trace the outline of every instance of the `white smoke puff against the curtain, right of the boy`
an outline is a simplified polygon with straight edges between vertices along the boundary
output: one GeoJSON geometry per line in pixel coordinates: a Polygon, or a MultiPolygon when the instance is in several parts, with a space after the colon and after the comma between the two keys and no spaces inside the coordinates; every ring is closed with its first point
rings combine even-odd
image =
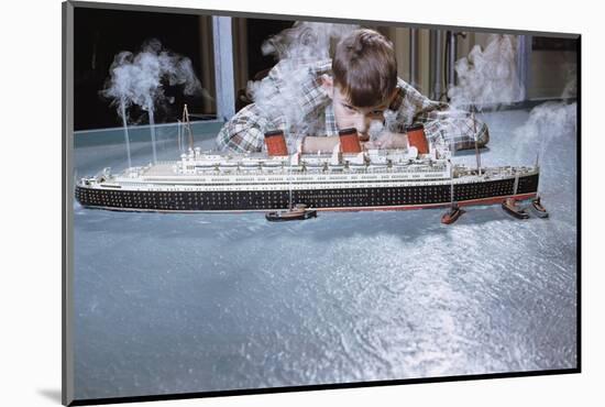
{"type": "Polygon", "coordinates": [[[521,96],[517,74],[517,37],[491,35],[485,51],[475,45],[468,57],[455,63],[458,85],[448,96],[454,107],[509,105],[521,96]]]}

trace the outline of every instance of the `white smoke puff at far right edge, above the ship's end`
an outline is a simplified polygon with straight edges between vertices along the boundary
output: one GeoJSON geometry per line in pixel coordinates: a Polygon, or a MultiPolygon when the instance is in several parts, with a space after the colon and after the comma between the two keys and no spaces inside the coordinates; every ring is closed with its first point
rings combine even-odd
{"type": "Polygon", "coordinates": [[[546,102],[535,107],[527,121],[514,131],[517,161],[544,156],[552,143],[576,136],[578,103],[546,102]]]}

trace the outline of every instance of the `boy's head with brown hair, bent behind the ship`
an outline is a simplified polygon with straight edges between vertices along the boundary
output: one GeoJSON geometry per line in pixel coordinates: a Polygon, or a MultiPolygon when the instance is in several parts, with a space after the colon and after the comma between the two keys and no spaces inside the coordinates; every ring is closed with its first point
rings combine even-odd
{"type": "Polygon", "coordinates": [[[323,78],[333,100],[340,129],[354,127],[367,135],[370,123],[383,121],[383,112],[397,86],[393,44],[372,30],[356,30],[344,37],[332,58],[332,78],[323,78]]]}

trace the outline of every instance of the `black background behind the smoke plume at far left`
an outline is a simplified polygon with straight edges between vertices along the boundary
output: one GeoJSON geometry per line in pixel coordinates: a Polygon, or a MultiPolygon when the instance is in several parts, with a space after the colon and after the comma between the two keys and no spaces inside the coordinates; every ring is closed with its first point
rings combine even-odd
{"type": "MultiPolygon", "coordinates": [[[[76,8],[74,22],[76,130],[121,125],[116,108],[99,92],[110,77],[114,55],[122,51],[136,54],[145,41],[157,38],[164,48],[189,57],[196,75],[200,75],[197,15],[76,8]]],[[[166,109],[157,109],[156,122],[174,117],[176,106],[183,102],[193,107],[200,105],[200,97],[183,98],[177,89],[166,87],[165,90],[166,96],[174,96],[176,100],[166,109]]],[[[134,120],[147,122],[146,113],[136,107],[131,108],[131,113],[134,120]]]]}

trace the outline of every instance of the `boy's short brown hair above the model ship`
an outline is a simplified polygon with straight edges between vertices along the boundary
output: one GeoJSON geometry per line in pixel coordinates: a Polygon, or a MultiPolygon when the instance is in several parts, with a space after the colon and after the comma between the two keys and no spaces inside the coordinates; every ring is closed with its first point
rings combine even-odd
{"type": "Polygon", "coordinates": [[[353,106],[377,106],[397,86],[393,44],[373,30],[356,30],[337,45],[332,73],[353,106]]]}

